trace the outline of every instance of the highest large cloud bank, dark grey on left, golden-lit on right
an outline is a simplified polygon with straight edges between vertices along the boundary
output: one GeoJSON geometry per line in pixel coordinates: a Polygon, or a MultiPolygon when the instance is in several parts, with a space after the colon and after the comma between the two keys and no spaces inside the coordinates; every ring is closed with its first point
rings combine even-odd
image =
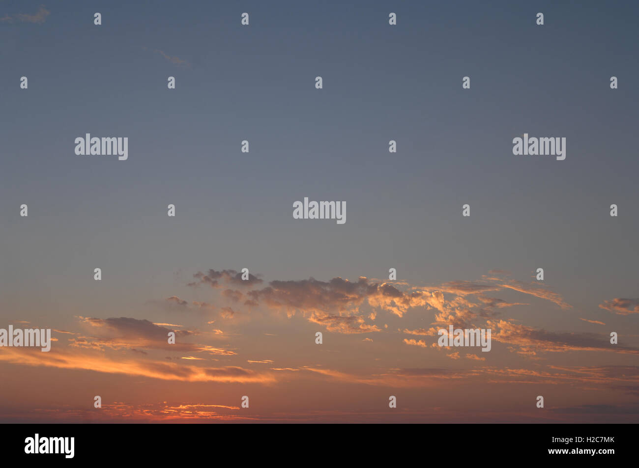
{"type": "MultiPolygon", "coordinates": [[[[250,307],[284,312],[289,318],[300,314],[309,322],[325,326],[328,331],[344,334],[383,331],[387,325],[380,328],[374,324],[380,312],[392,313],[401,318],[409,310],[420,308],[424,311],[434,308],[438,312],[431,328],[404,329],[404,333],[437,335],[438,329],[450,324],[455,328],[477,328],[477,323],[497,317],[505,308],[528,305],[486,296],[486,292],[490,291],[518,291],[547,299],[562,308],[571,307],[559,294],[548,291],[541,285],[503,278],[484,277],[481,282],[456,280],[436,286],[412,287],[407,282],[390,283],[369,280],[365,276],[360,276],[353,282],[339,276],[329,281],[311,277],[308,280],[273,280],[267,287],[243,292],[237,288],[255,286],[263,280],[251,274],[249,280],[243,281],[242,273],[234,269],[209,269],[206,273],[198,271],[193,277],[195,281],[187,285],[206,285],[220,291],[221,298],[231,303],[243,302],[250,307]]],[[[177,296],[171,296],[167,300],[188,307],[187,301],[177,296]]],[[[204,304],[206,303],[194,302],[194,305],[204,304]]],[[[213,308],[212,305],[207,306],[213,308]]],[[[220,315],[225,319],[235,317],[236,313],[238,312],[231,306],[220,307],[220,315]]],[[[244,320],[247,319],[248,317],[244,317],[244,320]]]]}

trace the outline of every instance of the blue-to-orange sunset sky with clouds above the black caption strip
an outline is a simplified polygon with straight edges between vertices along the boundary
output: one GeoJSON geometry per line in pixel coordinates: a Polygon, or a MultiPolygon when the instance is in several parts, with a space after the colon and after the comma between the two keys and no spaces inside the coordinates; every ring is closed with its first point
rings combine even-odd
{"type": "Polygon", "coordinates": [[[0,421],[637,422],[638,15],[0,1],[0,421]]]}

